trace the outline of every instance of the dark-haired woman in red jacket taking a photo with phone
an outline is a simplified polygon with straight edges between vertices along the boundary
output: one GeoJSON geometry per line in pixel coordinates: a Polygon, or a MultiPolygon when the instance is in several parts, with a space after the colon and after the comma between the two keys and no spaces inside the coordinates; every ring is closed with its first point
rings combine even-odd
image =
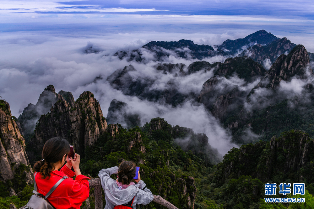
{"type": "Polygon", "coordinates": [[[71,157],[69,160],[69,151],[68,141],[62,138],[51,138],[42,150],[43,159],[34,165],[34,170],[37,172],[35,176],[37,191],[44,196],[62,176],[70,177],[62,181],[47,198],[56,209],[79,209],[89,197],[89,178],[81,175],[80,156],[75,154],[74,159],[71,157]],[[64,165],[65,161],[67,163],[64,165]],[[72,166],[75,173],[71,170],[72,166]],[[74,175],[76,175],[75,180],[71,178],[74,175]]]}

